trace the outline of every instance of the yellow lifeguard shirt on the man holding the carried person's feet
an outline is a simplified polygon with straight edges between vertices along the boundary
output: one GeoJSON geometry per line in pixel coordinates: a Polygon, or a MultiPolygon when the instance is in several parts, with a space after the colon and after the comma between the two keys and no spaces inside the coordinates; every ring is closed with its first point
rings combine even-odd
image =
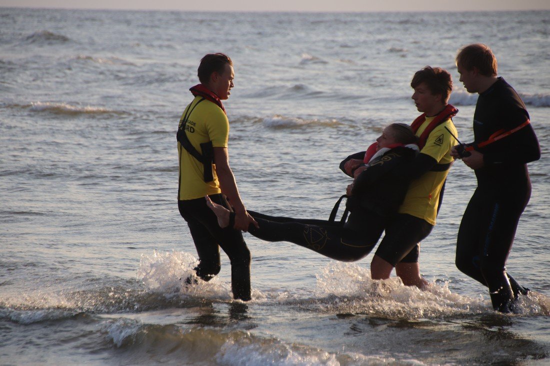
{"type": "MultiPolygon", "coordinates": [[[[229,120],[223,110],[207,99],[197,104],[202,97],[197,96],[185,108],[179,125],[189,110],[192,110],[186,125],[186,134],[191,145],[201,153],[201,143],[212,141],[213,147],[227,147],[229,138],[229,120]]],[[[179,193],[178,199],[195,199],[206,195],[221,193],[216,169],[213,169],[214,180],[204,181],[204,168],[199,160],[189,154],[178,142],[179,154],[179,193]]],[[[216,165],[214,165],[216,167],[216,165]]]]}

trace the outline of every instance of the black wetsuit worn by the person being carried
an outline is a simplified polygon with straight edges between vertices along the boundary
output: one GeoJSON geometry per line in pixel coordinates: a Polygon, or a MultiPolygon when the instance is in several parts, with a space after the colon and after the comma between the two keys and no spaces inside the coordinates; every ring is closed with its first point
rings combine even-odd
{"type": "MultiPolygon", "coordinates": [[[[365,153],[357,154],[362,159],[365,153]]],[[[357,176],[346,202],[350,215],[345,223],[272,217],[249,211],[260,226],[257,229],[250,225],[249,232],[262,240],[292,242],[345,262],[364,258],[378,242],[388,218],[403,202],[408,182],[401,172],[415,155],[411,148],[396,147],[369,162],[369,167],[357,176]]]]}

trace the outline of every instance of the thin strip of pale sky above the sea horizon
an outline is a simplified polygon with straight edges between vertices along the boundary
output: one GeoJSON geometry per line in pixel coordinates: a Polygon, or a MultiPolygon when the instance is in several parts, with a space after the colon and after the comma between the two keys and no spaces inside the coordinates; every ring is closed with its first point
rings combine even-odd
{"type": "Polygon", "coordinates": [[[0,0],[0,7],[250,12],[550,10],[549,0],[0,0]]]}

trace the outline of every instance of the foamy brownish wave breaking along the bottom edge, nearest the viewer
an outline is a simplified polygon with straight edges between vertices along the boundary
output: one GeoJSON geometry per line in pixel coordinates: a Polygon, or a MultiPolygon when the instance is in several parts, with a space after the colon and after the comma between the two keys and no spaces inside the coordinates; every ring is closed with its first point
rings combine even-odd
{"type": "Polygon", "coordinates": [[[331,352],[321,348],[261,336],[244,330],[185,329],[177,325],[144,324],[136,319],[108,320],[101,326],[107,341],[126,351],[126,362],[170,354],[180,364],[196,365],[338,365],[418,364],[393,357],[331,352]]]}

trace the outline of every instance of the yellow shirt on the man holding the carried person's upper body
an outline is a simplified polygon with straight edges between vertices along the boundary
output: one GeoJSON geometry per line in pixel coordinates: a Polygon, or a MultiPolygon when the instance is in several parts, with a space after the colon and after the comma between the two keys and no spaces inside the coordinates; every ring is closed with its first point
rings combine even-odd
{"type": "MultiPolygon", "coordinates": [[[[420,136],[434,118],[427,117],[418,131],[416,131],[416,136],[420,136]]],[[[420,151],[420,153],[436,159],[438,164],[449,164],[454,161],[450,156],[450,149],[456,145],[456,141],[445,127],[458,137],[453,121],[448,119],[439,124],[428,135],[426,145],[420,151]]],[[[427,171],[419,179],[411,181],[409,190],[398,212],[424,219],[428,223],[435,225],[439,195],[448,173],[449,169],[445,171],[427,171]]]]}

